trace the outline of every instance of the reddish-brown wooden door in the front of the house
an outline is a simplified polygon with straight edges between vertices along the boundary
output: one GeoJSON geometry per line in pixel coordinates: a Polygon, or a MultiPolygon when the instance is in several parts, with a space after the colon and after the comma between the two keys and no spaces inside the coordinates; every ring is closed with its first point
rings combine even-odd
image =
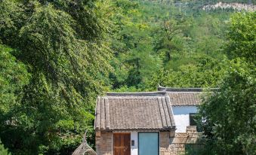
{"type": "Polygon", "coordinates": [[[114,155],[131,155],[130,133],[114,133],[113,140],[114,155]]]}

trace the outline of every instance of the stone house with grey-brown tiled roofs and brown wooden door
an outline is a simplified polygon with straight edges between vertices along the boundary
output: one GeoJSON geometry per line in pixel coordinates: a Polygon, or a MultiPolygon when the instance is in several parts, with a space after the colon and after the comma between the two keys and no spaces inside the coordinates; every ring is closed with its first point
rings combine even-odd
{"type": "Polygon", "coordinates": [[[95,110],[98,155],[175,155],[194,144],[193,116],[202,89],[159,87],[158,92],[106,93],[95,110]]]}

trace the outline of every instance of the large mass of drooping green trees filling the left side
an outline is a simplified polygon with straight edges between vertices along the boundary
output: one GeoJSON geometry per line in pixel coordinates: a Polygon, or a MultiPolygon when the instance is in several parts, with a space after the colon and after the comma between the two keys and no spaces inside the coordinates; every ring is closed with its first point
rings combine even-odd
{"type": "Polygon", "coordinates": [[[0,137],[14,154],[70,153],[85,130],[93,144],[111,57],[105,3],[0,2],[0,137]]]}

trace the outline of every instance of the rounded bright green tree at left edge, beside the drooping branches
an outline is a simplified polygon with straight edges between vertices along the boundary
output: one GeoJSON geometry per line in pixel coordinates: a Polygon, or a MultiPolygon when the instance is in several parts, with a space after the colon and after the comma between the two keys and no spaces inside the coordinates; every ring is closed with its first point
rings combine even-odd
{"type": "Polygon", "coordinates": [[[0,119],[17,105],[23,96],[23,87],[29,83],[30,74],[26,65],[11,53],[15,50],[0,44],[0,119]]]}

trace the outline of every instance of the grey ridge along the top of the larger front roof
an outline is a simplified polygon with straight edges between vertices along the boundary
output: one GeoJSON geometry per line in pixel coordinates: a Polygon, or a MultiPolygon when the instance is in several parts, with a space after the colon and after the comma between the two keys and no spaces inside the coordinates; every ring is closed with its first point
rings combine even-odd
{"type": "Polygon", "coordinates": [[[107,92],[106,96],[165,96],[165,91],[157,92],[129,92],[129,93],[116,93],[116,92],[107,92]]]}

